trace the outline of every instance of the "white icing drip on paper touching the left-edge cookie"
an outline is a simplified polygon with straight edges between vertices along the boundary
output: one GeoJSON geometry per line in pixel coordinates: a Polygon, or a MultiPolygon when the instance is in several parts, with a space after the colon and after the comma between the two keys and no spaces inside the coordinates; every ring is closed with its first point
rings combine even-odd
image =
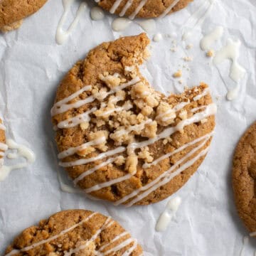
{"type": "Polygon", "coordinates": [[[14,149],[17,150],[17,153],[9,153],[7,154],[7,158],[9,159],[18,159],[19,157],[23,157],[26,159],[25,163],[21,164],[14,164],[11,166],[1,166],[0,168],[0,181],[4,181],[4,179],[9,176],[11,171],[14,171],[16,169],[22,169],[28,166],[28,164],[33,164],[33,162],[36,160],[36,156],[31,151],[31,149],[28,149],[28,147],[17,144],[12,139],[6,140],[6,145],[8,146],[8,149],[14,149]]]}

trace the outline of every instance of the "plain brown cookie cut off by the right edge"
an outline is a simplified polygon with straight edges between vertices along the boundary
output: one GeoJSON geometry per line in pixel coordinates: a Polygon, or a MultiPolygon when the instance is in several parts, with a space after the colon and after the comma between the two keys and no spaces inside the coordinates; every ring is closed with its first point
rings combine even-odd
{"type": "Polygon", "coordinates": [[[235,149],[233,191],[240,218],[250,232],[256,231],[256,122],[247,129],[235,149]]]}

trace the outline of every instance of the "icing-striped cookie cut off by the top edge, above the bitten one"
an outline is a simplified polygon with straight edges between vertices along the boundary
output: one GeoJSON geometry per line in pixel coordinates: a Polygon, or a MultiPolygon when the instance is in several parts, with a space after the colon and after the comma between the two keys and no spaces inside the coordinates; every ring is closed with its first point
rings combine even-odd
{"type": "Polygon", "coordinates": [[[163,18],[185,8],[193,0],[95,0],[111,14],[137,18],[163,18]]]}

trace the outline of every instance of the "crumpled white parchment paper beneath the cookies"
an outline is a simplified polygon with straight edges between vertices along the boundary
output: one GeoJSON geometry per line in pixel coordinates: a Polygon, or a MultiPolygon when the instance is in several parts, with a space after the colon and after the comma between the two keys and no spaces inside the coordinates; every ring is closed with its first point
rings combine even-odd
{"type": "MultiPolygon", "coordinates": [[[[61,0],[49,0],[43,9],[27,18],[18,31],[0,36],[1,117],[8,128],[8,137],[30,146],[37,156],[33,166],[14,171],[0,183],[1,254],[15,235],[41,218],[59,210],[86,208],[118,220],[138,238],[145,255],[240,255],[242,238],[247,231],[235,211],[230,175],[235,145],[256,119],[256,1],[217,0],[203,25],[193,29],[188,40],[194,46],[188,50],[193,62],[184,63],[181,58],[186,54],[182,47],[186,44],[181,42],[181,28],[202,3],[195,0],[187,9],[156,21],[157,31],[177,35],[178,51],[169,50],[174,38],[153,42],[152,57],[144,65],[144,73],[151,84],[164,92],[182,91],[183,85],[171,75],[183,64],[189,65],[191,70],[184,70],[183,80],[189,86],[207,82],[218,105],[210,152],[197,173],[176,193],[183,202],[165,233],[156,233],[154,227],[166,201],[145,207],[114,207],[110,203],[64,193],[57,179],[49,143],[53,141],[50,107],[56,87],[88,50],[102,41],[119,37],[119,33],[111,29],[113,17],[107,14],[103,21],[92,21],[87,9],[72,37],[58,46],[55,31],[63,5],[61,0]],[[241,81],[240,96],[233,102],[225,99],[226,86],[235,85],[228,78],[230,63],[227,61],[217,69],[199,48],[202,35],[217,25],[223,26],[225,32],[213,48],[223,46],[229,37],[242,42],[239,60],[247,75],[241,81]]],[[[75,16],[78,4],[79,1],[73,6],[69,21],[75,16]]],[[[142,28],[133,24],[122,35],[140,32],[142,28]]],[[[152,36],[153,33],[149,35],[152,36]]],[[[253,255],[255,249],[256,242],[250,239],[245,255],[253,255]]]]}

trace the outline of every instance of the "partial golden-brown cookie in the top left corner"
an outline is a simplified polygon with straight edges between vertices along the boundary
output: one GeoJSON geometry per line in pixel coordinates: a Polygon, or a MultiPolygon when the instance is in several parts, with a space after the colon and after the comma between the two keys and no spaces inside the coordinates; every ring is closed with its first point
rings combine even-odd
{"type": "Polygon", "coordinates": [[[8,32],[21,26],[23,18],[40,9],[47,0],[1,0],[0,31],[8,32]]]}

